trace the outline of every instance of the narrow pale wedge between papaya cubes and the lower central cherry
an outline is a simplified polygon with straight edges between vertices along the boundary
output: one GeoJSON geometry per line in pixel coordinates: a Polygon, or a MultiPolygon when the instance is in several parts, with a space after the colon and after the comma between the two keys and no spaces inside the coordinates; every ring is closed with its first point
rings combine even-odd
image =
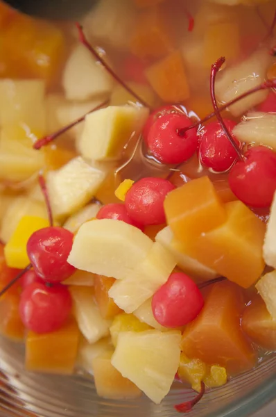
{"type": "Polygon", "coordinates": [[[166,250],[169,250],[171,254],[175,256],[179,268],[181,268],[188,275],[200,279],[201,281],[209,281],[209,279],[217,277],[215,270],[208,268],[196,259],[193,259],[191,256],[188,256],[180,251],[178,241],[173,238],[173,232],[169,226],[159,231],[157,236],[155,236],[155,240],[166,247],[166,250]]]}

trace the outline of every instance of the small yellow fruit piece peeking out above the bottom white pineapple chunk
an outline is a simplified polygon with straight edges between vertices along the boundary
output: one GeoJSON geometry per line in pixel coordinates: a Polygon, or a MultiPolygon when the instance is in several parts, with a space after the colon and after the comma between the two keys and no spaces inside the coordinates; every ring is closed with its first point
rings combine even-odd
{"type": "Polygon", "coordinates": [[[111,339],[114,347],[117,346],[119,334],[122,332],[145,332],[151,327],[146,323],[140,322],[133,314],[118,314],[110,327],[111,339]]]}

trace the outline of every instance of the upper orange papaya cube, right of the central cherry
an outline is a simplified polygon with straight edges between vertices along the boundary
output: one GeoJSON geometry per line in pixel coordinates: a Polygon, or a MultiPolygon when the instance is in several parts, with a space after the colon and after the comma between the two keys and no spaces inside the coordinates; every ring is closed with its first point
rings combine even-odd
{"type": "Polygon", "coordinates": [[[208,177],[193,179],[167,195],[166,220],[180,242],[195,239],[226,220],[226,211],[208,177]]]}

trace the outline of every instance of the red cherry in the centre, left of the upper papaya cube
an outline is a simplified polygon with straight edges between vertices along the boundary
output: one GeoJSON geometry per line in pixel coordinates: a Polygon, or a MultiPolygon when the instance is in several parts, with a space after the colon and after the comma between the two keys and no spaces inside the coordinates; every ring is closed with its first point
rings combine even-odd
{"type": "Polygon", "coordinates": [[[148,226],[166,221],[164,199],[175,186],[162,178],[148,177],[134,183],[126,193],[126,210],[130,218],[148,226]]]}

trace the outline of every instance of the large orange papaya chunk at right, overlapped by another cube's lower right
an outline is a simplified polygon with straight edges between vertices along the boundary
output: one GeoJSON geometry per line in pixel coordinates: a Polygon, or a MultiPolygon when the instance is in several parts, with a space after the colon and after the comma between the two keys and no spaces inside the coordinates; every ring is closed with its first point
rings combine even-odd
{"type": "MultiPolygon", "coordinates": [[[[249,288],[264,270],[262,246],[266,224],[240,201],[225,204],[227,220],[196,240],[198,261],[249,288]]],[[[208,220],[208,218],[207,218],[208,220]]]]}

